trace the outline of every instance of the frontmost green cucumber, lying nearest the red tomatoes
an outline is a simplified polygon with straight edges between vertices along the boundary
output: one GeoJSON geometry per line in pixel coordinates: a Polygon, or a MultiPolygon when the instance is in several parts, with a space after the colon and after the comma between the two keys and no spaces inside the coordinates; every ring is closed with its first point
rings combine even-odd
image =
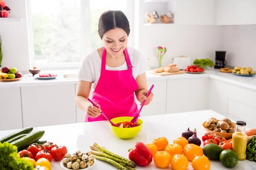
{"type": "Polygon", "coordinates": [[[20,148],[23,148],[29,144],[32,144],[38,141],[43,136],[44,136],[44,130],[38,130],[32,133],[29,133],[28,135],[12,142],[11,144],[17,146],[17,149],[19,150],[20,148]]]}

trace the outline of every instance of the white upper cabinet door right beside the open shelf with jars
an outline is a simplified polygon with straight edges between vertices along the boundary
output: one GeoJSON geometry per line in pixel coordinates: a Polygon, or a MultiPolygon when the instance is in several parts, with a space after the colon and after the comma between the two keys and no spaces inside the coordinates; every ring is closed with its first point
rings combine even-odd
{"type": "Polygon", "coordinates": [[[177,0],[177,24],[215,25],[215,0],[177,0]]]}

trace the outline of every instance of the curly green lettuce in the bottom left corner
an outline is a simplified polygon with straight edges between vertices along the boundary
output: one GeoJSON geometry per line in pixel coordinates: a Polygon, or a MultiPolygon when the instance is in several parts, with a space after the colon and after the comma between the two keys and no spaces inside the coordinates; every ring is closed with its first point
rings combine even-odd
{"type": "Polygon", "coordinates": [[[20,158],[17,147],[4,142],[0,143],[0,170],[33,170],[32,163],[20,158]]]}

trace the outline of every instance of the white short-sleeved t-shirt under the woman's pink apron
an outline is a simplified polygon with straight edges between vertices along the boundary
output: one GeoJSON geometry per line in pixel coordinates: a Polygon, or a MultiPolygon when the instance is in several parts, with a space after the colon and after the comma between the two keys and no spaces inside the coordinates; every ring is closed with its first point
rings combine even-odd
{"type": "MultiPolygon", "coordinates": [[[[146,70],[148,70],[148,63],[147,60],[142,56],[141,52],[138,51],[135,48],[132,48],[130,46],[127,47],[127,51],[129,54],[129,57],[131,59],[131,65],[132,68],[132,74],[134,79],[140,74],[145,73],[146,70]]],[[[96,88],[96,85],[99,81],[100,72],[101,72],[101,58],[99,56],[98,50],[95,49],[90,54],[88,54],[82,64],[79,68],[79,72],[77,74],[77,78],[79,80],[87,81],[87,82],[93,82],[92,88],[93,91],[96,88]]],[[[128,66],[126,61],[118,66],[118,67],[109,67],[106,65],[106,70],[127,70],[128,66]]],[[[110,80],[111,81],[111,80],[110,80]]]]}

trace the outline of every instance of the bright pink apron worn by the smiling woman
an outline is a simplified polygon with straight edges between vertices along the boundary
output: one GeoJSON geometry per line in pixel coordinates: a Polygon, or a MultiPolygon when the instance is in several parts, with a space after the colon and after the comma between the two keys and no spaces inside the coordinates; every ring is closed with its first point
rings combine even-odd
{"type": "MultiPolygon", "coordinates": [[[[127,70],[106,70],[106,49],[103,47],[101,74],[93,92],[92,101],[100,105],[109,119],[120,116],[135,116],[138,113],[134,92],[138,84],[132,75],[132,65],[127,49],[124,50],[127,70]]],[[[91,118],[87,114],[85,122],[107,120],[102,114],[91,118]]]]}

